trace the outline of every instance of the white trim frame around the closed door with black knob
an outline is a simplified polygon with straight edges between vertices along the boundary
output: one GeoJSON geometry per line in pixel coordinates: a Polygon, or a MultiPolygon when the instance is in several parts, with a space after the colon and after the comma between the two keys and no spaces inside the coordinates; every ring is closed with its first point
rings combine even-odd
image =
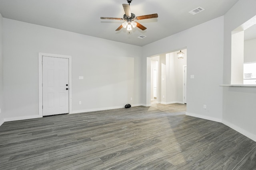
{"type": "Polygon", "coordinates": [[[43,117],[43,68],[42,59],[43,56],[46,57],[57,57],[68,59],[68,86],[69,86],[69,98],[68,98],[68,113],[72,113],[72,56],[70,55],[58,55],[58,54],[48,54],[48,53],[38,53],[38,89],[39,89],[39,100],[38,100],[38,110],[39,116],[43,117]]]}

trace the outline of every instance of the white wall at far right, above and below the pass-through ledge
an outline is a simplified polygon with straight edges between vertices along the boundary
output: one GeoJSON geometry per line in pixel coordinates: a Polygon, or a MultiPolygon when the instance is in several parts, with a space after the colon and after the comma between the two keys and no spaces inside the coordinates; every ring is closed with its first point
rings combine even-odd
{"type": "MultiPolygon", "coordinates": [[[[224,84],[231,77],[231,31],[256,15],[255,0],[239,0],[224,15],[224,84]]],[[[254,46],[255,48],[255,46],[254,46]]],[[[223,88],[223,123],[256,141],[256,88],[223,88]]]]}

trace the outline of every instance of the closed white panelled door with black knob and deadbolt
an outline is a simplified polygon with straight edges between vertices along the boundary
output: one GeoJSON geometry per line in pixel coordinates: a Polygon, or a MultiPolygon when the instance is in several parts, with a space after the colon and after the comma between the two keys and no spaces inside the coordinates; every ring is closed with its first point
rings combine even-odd
{"type": "Polygon", "coordinates": [[[42,57],[43,116],[69,112],[68,59],[42,57]]]}

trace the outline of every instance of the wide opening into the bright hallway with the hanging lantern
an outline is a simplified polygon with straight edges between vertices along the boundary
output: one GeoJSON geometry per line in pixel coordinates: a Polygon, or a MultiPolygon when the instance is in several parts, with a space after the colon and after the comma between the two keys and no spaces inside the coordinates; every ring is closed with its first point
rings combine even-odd
{"type": "Polygon", "coordinates": [[[150,94],[148,94],[147,101],[157,104],[186,103],[186,88],[184,88],[186,85],[186,81],[184,81],[186,58],[186,49],[149,57],[150,94]],[[180,51],[184,53],[183,59],[178,59],[177,53],[180,51]]]}

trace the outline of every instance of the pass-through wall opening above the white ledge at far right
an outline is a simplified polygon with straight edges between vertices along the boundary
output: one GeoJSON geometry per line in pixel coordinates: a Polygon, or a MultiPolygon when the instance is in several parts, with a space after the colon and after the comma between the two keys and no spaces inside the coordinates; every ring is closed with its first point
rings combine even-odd
{"type": "Polygon", "coordinates": [[[232,31],[231,84],[256,84],[256,16],[232,31]]]}

